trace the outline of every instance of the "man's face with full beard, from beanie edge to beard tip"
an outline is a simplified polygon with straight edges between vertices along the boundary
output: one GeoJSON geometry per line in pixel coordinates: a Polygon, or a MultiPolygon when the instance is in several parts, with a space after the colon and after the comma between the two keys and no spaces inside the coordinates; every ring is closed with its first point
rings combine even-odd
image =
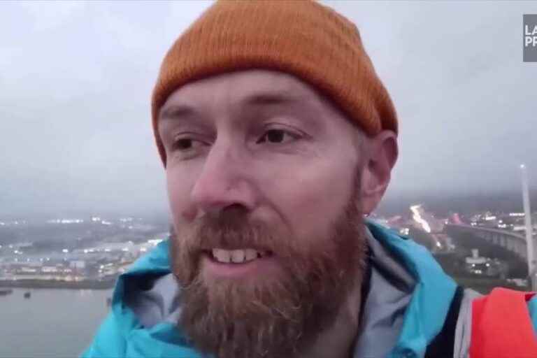
{"type": "Polygon", "coordinates": [[[356,131],[310,86],[273,71],[199,80],[166,101],[180,324],[202,349],[295,351],[359,283],[356,131]]]}

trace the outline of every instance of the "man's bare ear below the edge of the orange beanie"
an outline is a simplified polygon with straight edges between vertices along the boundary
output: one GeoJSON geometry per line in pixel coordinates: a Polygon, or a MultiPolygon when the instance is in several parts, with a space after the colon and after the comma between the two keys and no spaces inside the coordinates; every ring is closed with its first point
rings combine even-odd
{"type": "Polygon", "coordinates": [[[399,149],[393,131],[381,131],[366,139],[364,169],[361,173],[361,210],[369,215],[384,196],[399,149]]]}

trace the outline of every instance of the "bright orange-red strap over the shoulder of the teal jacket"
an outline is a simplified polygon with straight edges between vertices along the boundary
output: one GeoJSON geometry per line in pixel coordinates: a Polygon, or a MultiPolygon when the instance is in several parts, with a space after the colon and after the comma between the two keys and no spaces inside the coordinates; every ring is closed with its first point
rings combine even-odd
{"type": "Polygon", "coordinates": [[[472,302],[470,358],[537,358],[527,301],[535,293],[495,288],[472,302]]]}

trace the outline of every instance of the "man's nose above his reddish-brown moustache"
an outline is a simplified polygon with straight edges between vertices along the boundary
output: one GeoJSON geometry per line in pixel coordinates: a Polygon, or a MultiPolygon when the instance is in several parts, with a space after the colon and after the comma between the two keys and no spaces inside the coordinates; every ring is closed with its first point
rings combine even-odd
{"type": "Polygon", "coordinates": [[[215,143],[192,188],[191,200],[196,211],[217,214],[231,206],[252,210],[255,190],[249,166],[247,156],[241,155],[239,149],[215,143]]]}

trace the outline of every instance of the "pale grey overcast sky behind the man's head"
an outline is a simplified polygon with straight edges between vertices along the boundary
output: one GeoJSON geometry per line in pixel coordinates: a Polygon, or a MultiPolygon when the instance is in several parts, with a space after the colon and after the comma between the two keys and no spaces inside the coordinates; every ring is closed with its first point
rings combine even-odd
{"type": "MultiPolygon", "coordinates": [[[[394,100],[388,196],[537,187],[537,2],[327,1],[355,22],[394,100]]],[[[150,93],[164,53],[210,3],[0,2],[0,218],[166,210],[150,93]]]]}

